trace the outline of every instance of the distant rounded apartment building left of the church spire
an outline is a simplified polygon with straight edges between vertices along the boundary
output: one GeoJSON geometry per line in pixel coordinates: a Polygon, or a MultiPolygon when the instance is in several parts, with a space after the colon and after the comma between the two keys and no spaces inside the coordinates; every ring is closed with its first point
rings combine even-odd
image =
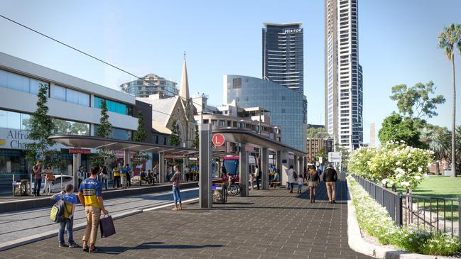
{"type": "Polygon", "coordinates": [[[148,97],[151,94],[160,94],[161,97],[175,97],[179,94],[176,82],[148,74],[141,79],[126,82],[120,85],[122,92],[133,94],[135,97],[148,97]]]}

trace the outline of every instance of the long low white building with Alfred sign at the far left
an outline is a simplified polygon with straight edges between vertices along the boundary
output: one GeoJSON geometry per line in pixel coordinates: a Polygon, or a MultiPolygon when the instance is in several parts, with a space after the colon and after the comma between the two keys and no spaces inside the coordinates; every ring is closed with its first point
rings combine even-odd
{"type": "MultiPolygon", "coordinates": [[[[48,87],[48,115],[55,134],[93,136],[102,101],[109,111],[112,138],[131,140],[138,125],[134,96],[0,53],[0,180],[8,175],[10,189],[11,174],[28,179],[32,167],[23,150],[33,141],[28,138],[29,120],[36,111],[40,84],[48,87]]],[[[63,145],[53,148],[61,153],[59,172],[72,175],[72,154],[63,145]]],[[[89,158],[82,155],[82,165],[89,166],[89,158]]]]}

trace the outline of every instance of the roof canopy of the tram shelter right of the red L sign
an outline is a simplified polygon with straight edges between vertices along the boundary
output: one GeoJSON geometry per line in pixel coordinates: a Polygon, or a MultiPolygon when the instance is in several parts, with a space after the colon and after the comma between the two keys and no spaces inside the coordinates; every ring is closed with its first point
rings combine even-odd
{"type": "Polygon", "coordinates": [[[248,131],[241,128],[213,129],[213,134],[215,133],[221,133],[224,135],[224,139],[226,141],[234,143],[247,143],[258,148],[269,148],[275,151],[291,152],[298,157],[305,157],[307,155],[307,153],[303,152],[302,150],[298,150],[281,142],[271,140],[271,138],[258,135],[253,131],[248,131]]]}

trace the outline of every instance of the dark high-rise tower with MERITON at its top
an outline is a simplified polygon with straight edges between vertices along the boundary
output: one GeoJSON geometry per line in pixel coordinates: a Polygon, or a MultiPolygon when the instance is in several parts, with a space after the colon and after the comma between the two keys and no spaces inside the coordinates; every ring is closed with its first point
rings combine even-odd
{"type": "Polygon", "coordinates": [[[303,94],[303,23],[264,23],[263,79],[303,94]]]}

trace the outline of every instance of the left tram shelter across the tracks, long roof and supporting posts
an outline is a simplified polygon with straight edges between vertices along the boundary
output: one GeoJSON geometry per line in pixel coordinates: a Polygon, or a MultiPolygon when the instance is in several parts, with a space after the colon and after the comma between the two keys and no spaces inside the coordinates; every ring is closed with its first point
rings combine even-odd
{"type": "MultiPolygon", "coordinates": [[[[102,148],[105,150],[122,150],[124,151],[124,161],[129,163],[131,151],[135,152],[148,152],[158,153],[158,180],[164,182],[166,165],[165,156],[193,156],[198,154],[198,150],[195,148],[181,148],[173,145],[158,145],[153,143],[143,143],[130,140],[118,140],[114,138],[101,138],[95,136],[50,136],[48,139],[53,140],[56,143],[60,143],[69,148],[75,148],[77,150],[82,148],[102,148]]],[[[82,161],[82,155],[80,153],[73,154],[73,168],[79,168],[82,161]]],[[[77,170],[74,172],[74,186],[77,186],[77,170]]]]}

